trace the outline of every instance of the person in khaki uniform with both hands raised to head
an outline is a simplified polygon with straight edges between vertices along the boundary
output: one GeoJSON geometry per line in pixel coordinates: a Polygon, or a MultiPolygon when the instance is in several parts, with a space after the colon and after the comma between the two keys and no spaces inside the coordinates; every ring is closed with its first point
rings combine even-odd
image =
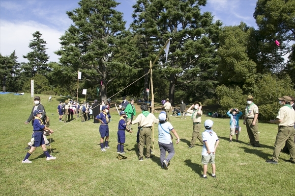
{"type": "Polygon", "coordinates": [[[187,112],[192,114],[191,119],[193,120],[193,136],[192,136],[192,140],[190,142],[189,148],[195,147],[195,143],[196,143],[197,139],[203,145],[202,134],[200,134],[201,117],[202,117],[202,114],[203,114],[201,103],[199,101],[196,101],[193,105],[191,105],[188,108],[187,112]]]}

